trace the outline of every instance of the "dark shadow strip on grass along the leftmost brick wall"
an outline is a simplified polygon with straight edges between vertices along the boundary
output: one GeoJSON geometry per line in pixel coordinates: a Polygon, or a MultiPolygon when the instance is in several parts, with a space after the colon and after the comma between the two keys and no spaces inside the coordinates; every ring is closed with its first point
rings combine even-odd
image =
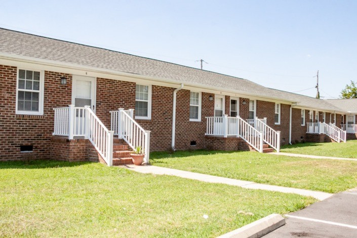
{"type": "Polygon", "coordinates": [[[32,161],[0,161],[1,169],[46,169],[76,167],[91,164],[93,162],[66,162],[54,160],[32,160],[32,161]]]}

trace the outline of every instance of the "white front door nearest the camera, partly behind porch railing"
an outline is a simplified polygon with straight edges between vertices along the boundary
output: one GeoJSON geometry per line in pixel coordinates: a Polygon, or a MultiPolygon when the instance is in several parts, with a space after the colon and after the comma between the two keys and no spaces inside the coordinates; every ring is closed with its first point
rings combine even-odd
{"type": "Polygon", "coordinates": [[[95,111],[96,78],[73,75],[72,104],[75,107],[74,134],[85,135],[85,111],[78,107],[90,106],[95,111]]]}

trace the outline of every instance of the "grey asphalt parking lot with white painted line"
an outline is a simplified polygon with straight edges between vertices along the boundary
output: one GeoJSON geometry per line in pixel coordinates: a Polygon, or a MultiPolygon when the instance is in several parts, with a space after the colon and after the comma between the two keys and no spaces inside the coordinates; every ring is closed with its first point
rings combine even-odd
{"type": "Polygon", "coordinates": [[[357,188],[288,214],[286,225],[264,237],[357,237],[357,188]]]}

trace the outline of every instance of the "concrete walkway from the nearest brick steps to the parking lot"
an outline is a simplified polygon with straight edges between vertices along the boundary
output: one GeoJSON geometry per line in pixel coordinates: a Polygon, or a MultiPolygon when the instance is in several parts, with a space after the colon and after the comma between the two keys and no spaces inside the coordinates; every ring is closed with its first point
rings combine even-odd
{"type": "Polygon", "coordinates": [[[199,180],[209,183],[223,183],[223,184],[239,186],[243,188],[250,188],[250,189],[262,189],[262,190],[278,191],[278,192],[285,192],[285,193],[295,193],[304,196],[312,196],[315,199],[321,201],[333,195],[327,192],[319,192],[319,191],[311,191],[311,190],[299,189],[299,188],[261,184],[261,183],[255,183],[250,181],[224,178],[224,177],[218,177],[208,174],[193,173],[183,170],[176,170],[176,169],[170,169],[170,168],[164,168],[164,167],[158,167],[152,165],[146,165],[146,166],[126,165],[121,167],[144,174],[173,175],[181,178],[194,179],[194,180],[199,180]]]}

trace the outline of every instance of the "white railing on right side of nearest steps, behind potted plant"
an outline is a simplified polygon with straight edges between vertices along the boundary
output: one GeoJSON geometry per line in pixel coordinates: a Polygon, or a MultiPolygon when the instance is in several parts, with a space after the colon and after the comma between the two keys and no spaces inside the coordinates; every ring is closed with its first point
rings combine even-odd
{"type": "Polygon", "coordinates": [[[144,162],[149,163],[150,158],[150,131],[145,131],[134,119],[134,109],[110,111],[111,129],[118,138],[123,139],[128,145],[135,149],[141,146],[145,154],[144,162]]]}

